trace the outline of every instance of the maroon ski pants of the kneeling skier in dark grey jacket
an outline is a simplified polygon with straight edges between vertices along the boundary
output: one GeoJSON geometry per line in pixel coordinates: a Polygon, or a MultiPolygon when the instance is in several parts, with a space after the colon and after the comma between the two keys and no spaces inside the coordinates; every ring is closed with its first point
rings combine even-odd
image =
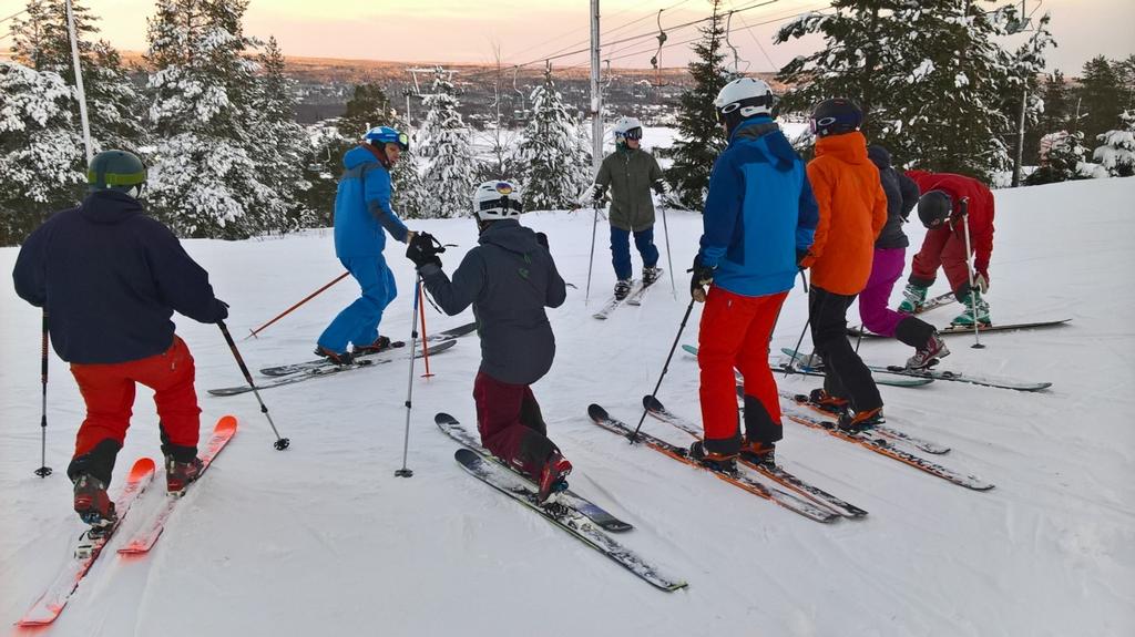
{"type": "Polygon", "coordinates": [[[547,425],[532,389],[478,372],[473,381],[473,400],[477,402],[477,430],[485,449],[539,478],[548,456],[557,449],[546,435],[547,425]]]}

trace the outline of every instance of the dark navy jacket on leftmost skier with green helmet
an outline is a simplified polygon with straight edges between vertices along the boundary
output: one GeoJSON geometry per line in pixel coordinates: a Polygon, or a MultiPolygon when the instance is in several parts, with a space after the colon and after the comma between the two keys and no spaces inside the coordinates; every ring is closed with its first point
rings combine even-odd
{"type": "Polygon", "coordinates": [[[19,249],[16,294],[48,311],[51,345],[70,363],[138,360],[174,343],[174,312],[216,323],[228,311],[209,274],[137,199],[99,190],[52,215],[19,249]]]}

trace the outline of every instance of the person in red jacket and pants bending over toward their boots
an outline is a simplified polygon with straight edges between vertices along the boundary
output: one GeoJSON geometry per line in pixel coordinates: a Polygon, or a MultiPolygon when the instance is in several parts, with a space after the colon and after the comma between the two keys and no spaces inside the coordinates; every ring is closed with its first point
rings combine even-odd
{"type": "Polygon", "coordinates": [[[949,172],[908,170],[922,192],[918,216],[926,226],[922,249],[911,263],[906,297],[899,312],[913,314],[926,300],[926,291],[945,270],[950,289],[965,306],[953,324],[990,323],[989,304],[982,298],[990,287],[990,256],[993,254],[993,193],[981,181],[949,172]],[[945,195],[944,197],[942,195],[945,195]],[[967,201],[969,243],[974,253],[974,288],[969,284],[969,254],[962,226],[961,202],[967,201]]]}

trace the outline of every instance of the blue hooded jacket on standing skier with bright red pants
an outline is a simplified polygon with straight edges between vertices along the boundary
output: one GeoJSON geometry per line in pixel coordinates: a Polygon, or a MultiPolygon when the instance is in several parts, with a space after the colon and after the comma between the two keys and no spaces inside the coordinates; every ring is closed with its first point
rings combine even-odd
{"type": "Polygon", "coordinates": [[[812,245],[819,219],[804,162],[773,120],[755,117],[730,135],[709,177],[701,263],[713,282],[757,297],[792,288],[797,252],[812,245]]]}

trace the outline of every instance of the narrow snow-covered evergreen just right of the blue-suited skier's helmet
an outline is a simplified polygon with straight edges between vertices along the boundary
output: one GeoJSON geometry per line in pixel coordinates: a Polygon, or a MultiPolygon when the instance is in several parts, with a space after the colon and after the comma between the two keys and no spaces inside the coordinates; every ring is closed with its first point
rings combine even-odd
{"type": "Polygon", "coordinates": [[[477,160],[465,127],[457,112],[453,83],[442,67],[434,74],[430,94],[422,99],[426,119],[420,130],[422,187],[426,193],[422,216],[427,219],[462,216],[470,210],[477,160]]]}

